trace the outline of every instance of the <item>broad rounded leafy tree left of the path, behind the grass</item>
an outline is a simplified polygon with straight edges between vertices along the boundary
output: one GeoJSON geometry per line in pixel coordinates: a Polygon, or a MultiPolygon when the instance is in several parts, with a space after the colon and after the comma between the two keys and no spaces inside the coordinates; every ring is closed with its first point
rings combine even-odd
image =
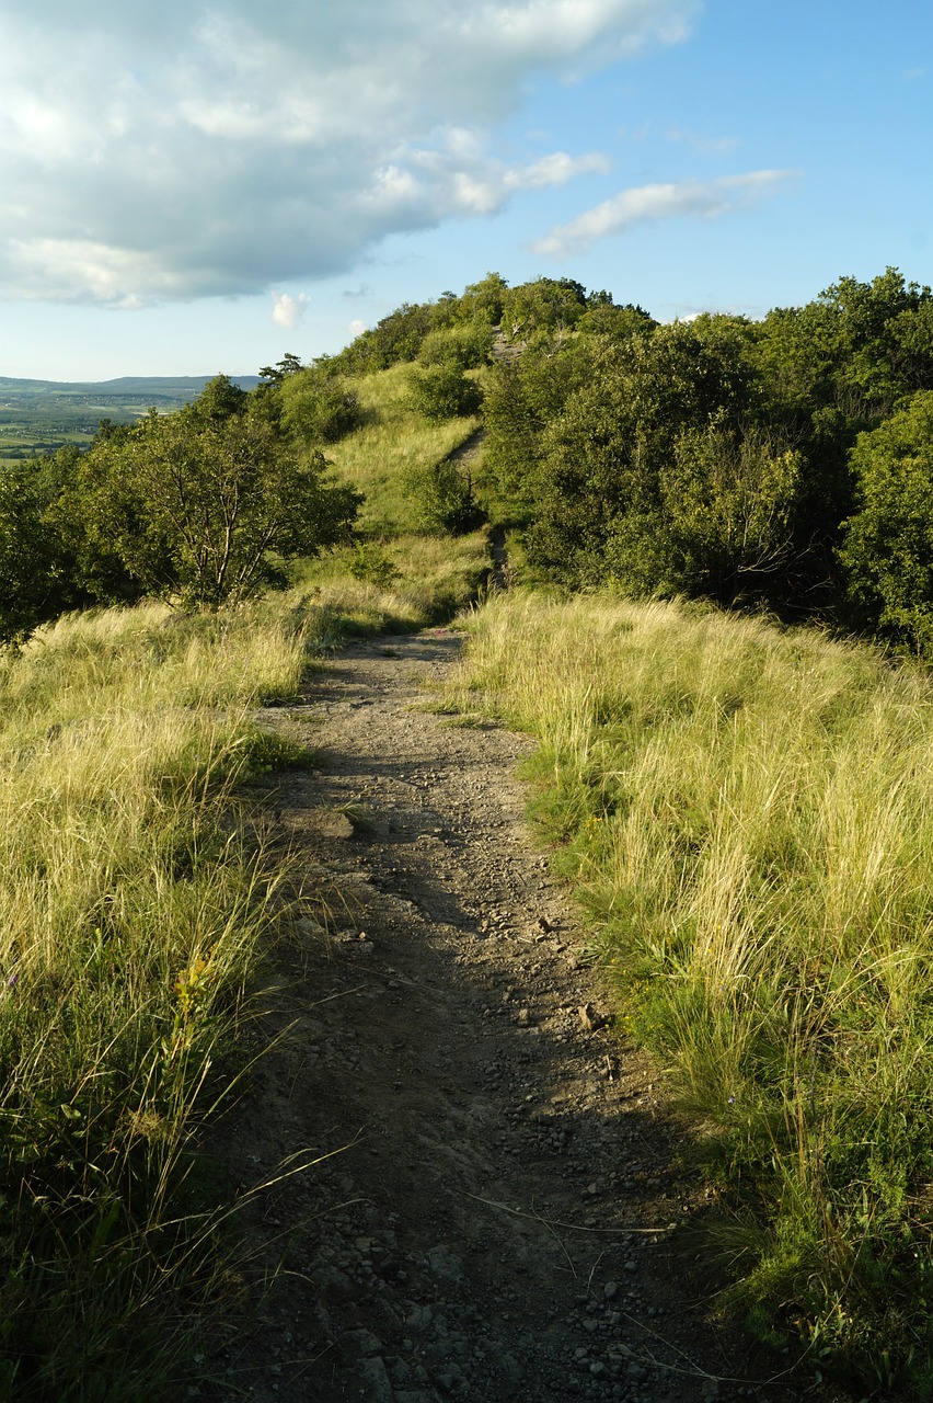
{"type": "Polygon", "coordinates": [[[153,412],[98,445],[64,505],[84,522],[91,586],[116,560],[146,593],[217,607],[280,582],[280,561],[349,535],[360,497],[325,474],[319,450],[300,456],[261,398],[212,382],[188,410],[153,412]]]}

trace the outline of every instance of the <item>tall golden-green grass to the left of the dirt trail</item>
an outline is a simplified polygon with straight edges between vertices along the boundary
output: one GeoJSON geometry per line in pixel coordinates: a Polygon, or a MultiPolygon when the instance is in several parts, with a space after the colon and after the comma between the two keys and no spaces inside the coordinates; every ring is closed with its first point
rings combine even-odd
{"type": "MultiPolygon", "coordinates": [[[[277,878],[231,786],[304,640],[161,606],[0,662],[0,1396],[174,1399],[213,1270],[191,1146],[277,878]]],[[[203,1205],[202,1205],[203,1207],[203,1205]]]]}

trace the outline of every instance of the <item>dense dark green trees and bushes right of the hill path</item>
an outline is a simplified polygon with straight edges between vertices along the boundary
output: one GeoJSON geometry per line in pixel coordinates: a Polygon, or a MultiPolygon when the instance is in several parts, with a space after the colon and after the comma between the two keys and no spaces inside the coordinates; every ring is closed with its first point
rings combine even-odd
{"type": "Polygon", "coordinates": [[[503,325],[524,349],[488,376],[486,466],[532,564],[926,645],[933,579],[897,499],[908,460],[922,495],[929,288],[888,269],[759,323],[658,325],[541,281],[506,295],[503,325]]]}

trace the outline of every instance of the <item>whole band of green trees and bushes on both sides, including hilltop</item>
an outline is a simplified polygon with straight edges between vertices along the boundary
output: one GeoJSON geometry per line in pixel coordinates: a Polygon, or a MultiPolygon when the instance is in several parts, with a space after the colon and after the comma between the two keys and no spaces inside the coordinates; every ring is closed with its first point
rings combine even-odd
{"type": "Polygon", "coordinates": [[[363,421],[359,379],[401,362],[419,414],[482,407],[481,505],[538,572],[933,651],[933,295],[895,268],[758,321],[674,324],[489,274],[252,393],[221,376],[178,414],[104,421],[88,453],[0,477],[0,638],[144,593],[245,598],[346,539],[359,498],[324,453],[363,421]]]}

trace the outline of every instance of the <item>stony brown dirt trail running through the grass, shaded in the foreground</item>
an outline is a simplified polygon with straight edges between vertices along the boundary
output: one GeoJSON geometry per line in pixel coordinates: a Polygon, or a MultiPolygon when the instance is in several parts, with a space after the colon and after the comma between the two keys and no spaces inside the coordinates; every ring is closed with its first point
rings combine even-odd
{"type": "Polygon", "coordinates": [[[272,804],[310,895],[329,892],[329,934],[310,905],[284,955],[294,1027],[223,1152],[251,1184],[346,1148],[247,1214],[276,1239],[254,1273],[282,1267],[212,1396],[808,1397],[755,1382],[786,1358],[703,1323],[709,1285],[674,1230],[702,1193],[528,842],[528,742],[416,710],[458,647],[447,630],[350,647],[266,714],[322,756],[272,804]]]}

